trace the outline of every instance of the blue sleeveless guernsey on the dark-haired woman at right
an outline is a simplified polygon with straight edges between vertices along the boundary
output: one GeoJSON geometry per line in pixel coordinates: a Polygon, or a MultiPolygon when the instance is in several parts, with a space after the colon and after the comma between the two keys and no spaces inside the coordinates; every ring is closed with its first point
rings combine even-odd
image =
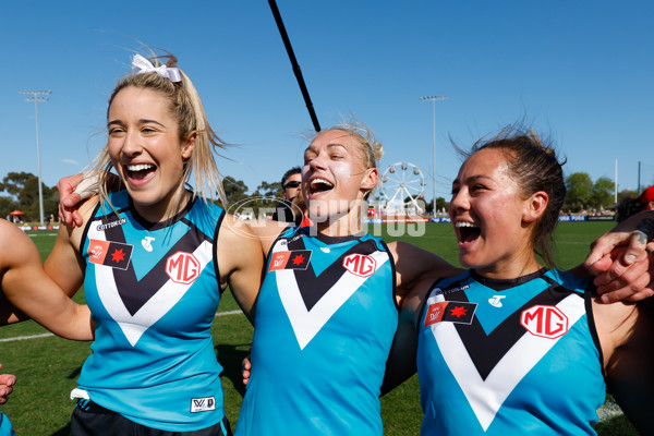
{"type": "Polygon", "coordinates": [[[605,399],[586,280],[436,282],[419,325],[422,435],[589,435],[605,399]]]}

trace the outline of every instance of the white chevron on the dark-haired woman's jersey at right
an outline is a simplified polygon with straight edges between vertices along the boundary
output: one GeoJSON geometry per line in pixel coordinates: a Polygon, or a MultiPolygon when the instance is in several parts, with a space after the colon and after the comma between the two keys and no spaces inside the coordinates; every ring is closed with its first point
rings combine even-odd
{"type": "MultiPolygon", "coordinates": [[[[441,301],[445,301],[444,296],[436,295],[429,298],[427,304],[441,301]]],[[[568,317],[569,328],[585,313],[584,301],[580,295],[568,295],[557,304],[557,307],[568,317]]],[[[520,380],[559,339],[565,337],[564,335],[557,339],[547,339],[525,331],[484,380],[470,359],[453,323],[441,322],[431,328],[443,358],[463,390],[484,432],[520,380]]]]}

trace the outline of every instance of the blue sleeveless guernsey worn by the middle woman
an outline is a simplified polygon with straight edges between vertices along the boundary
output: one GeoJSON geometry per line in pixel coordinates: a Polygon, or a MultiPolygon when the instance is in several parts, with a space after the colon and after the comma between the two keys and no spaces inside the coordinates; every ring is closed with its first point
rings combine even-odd
{"type": "Polygon", "coordinates": [[[252,376],[234,435],[380,435],[395,267],[371,235],[289,229],[256,303],[252,376]]]}

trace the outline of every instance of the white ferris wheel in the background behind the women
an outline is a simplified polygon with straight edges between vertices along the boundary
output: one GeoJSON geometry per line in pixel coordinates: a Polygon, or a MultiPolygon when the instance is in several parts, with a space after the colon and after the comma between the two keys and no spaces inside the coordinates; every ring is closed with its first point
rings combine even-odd
{"type": "Polygon", "coordinates": [[[384,171],[382,177],[382,194],[386,198],[387,209],[414,209],[419,214],[424,205],[427,182],[420,170],[410,162],[397,162],[384,171]]]}

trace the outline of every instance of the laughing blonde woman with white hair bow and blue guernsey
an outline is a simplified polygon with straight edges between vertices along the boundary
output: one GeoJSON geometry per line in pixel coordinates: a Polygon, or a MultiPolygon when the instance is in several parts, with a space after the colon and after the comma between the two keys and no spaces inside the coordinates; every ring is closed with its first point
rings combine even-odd
{"type": "Polygon", "coordinates": [[[60,228],[45,265],[69,294],[84,283],[96,323],[73,436],[231,435],[210,326],[227,286],[251,313],[262,247],[207,201],[222,192],[213,147],[223,144],[191,80],[174,57],[152,59],[134,56],[113,89],[100,195],[81,206],[83,227],[60,228]]]}

